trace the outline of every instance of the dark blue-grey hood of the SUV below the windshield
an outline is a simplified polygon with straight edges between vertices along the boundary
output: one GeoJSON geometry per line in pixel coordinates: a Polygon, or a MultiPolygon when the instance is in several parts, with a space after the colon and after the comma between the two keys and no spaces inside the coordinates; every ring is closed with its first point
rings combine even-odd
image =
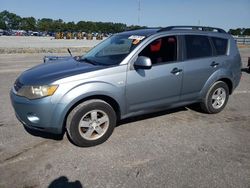
{"type": "Polygon", "coordinates": [[[106,66],[78,62],[74,58],[65,58],[55,62],[43,63],[24,71],[18,81],[24,85],[45,85],[61,78],[104,69],[106,66]]]}

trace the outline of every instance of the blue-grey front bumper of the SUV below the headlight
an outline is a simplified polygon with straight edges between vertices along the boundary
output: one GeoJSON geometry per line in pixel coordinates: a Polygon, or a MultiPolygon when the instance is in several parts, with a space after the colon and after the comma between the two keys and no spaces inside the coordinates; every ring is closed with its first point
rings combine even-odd
{"type": "Polygon", "coordinates": [[[56,105],[51,102],[51,97],[29,100],[11,90],[10,99],[17,119],[25,127],[54,134],[62,133],[62,126],[53,122],[56,105]]]}

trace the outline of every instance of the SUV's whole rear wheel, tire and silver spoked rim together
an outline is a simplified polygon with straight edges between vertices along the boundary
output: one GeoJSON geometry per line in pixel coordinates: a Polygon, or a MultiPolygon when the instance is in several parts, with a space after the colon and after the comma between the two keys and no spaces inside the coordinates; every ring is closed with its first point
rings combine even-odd
{"type": "Polygon", "coordinates": [[[225,82],[218,81],[208,90],[201,103],[201,109],[209,114],[219,113],[224,109],[229,97],[229,89],[225,82]]]}

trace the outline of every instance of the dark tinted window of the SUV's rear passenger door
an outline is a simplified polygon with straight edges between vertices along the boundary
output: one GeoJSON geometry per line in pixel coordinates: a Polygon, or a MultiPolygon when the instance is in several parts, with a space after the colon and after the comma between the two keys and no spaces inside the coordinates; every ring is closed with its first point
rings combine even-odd
{"type": "Polygon", "coordinates": [[[186,35],[185,42],[187,59],[212,56],[212,47],[208,37],[201,35],[186,35]]]}

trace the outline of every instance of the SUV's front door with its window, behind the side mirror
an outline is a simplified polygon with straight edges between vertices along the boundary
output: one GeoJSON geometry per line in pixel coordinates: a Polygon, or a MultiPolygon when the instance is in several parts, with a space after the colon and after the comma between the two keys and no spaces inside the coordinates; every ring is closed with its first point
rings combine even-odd
{"type": "Polygon", "coordinates": [[[128,113],[162,108],[180,100],[183,65],[177,61],[177,49],[178,38],[167,36],[154,40],[138,54],[149,57],[152,67],[128,70],[128,113]]]}

